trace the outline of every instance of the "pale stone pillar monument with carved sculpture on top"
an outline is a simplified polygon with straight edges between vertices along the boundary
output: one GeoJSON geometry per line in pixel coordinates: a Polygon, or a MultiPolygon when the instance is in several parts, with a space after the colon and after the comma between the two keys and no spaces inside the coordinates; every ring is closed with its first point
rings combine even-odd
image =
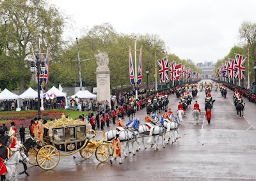
{"type": "Polygon", "coordinates": [[[95,55],[97,59],[97,69],[96,69],[96,78],[97,78],[97,100],[103,101],[108,100],[110,105],[110,71],[108,67],[109,57],[106,52],[100,52],[95,55]]]}

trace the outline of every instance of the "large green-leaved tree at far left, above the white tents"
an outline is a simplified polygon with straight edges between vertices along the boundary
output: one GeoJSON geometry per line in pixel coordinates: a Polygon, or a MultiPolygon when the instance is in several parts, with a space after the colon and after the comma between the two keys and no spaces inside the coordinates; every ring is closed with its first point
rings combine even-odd
{"type": "Polygon", "coordinates": [[[4,70],[5,74],[0,75],[0,80],[5,82],[5,87],[19,88],[21,93],[31,79],[31,47],[38,50],[40,38],[42,52],[46,52],[49,45],[51,57],[57,57],[63,43],[65,18],[44,0],[2,0],[0,8],[0,40],[4,48],[0,71],[4,70]]]}

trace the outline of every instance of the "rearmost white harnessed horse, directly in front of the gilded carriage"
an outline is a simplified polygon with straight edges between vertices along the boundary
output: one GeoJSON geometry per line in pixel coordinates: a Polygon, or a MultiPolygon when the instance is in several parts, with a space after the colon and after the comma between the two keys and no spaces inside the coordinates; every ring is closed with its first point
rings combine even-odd
{"type": "MultiPolygon", "coordinates": [[[[118,128],[120,130],[120,127],[118,127],[118,128]]],[[[113,130],[109,130],[105,133],[106,138],[104,141],[113,140],[116,137],[116,134],[119,134],[119,140],[125,146],[123,149],[125,157],[127,157],[127,152],[126,152],[127,149],[128,149],[128,152],[131,153],[131,151],[129,150],[129,143],[132,144],[132,153],[133,153],[133,155],[135,155],[134,142],[138,143],[138,141],[137,141],[138,134],[135,131],[125,130],[124,128],[121,129],[120,131],[116,131],[113,129],[113,130]]],[[[140,148],[140,143],[138,143],[137,150],[139,150],[139,148],[140,148]]]]}

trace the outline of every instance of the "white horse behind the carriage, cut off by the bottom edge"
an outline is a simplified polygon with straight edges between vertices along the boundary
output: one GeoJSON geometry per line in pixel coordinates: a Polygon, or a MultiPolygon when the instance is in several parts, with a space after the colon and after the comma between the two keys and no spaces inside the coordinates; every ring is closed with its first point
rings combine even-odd
{"type": "Polygon", "coordinates": [[[6,181],[17,181],[18,164],[20,162],[26,163],[28,161],[29,161],[28,156],[26,156],[24,152],[20,151],[20,149],[13,152],[12,156],[5,163],[8,171],[5,174],[6,181]]]}

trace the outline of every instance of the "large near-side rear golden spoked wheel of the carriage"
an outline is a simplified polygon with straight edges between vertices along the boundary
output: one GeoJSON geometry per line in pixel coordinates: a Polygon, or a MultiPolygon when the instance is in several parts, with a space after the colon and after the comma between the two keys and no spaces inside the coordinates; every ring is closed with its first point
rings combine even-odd
{"type": "Polygon", "coordinates": [[[38,166],[44,170],[51,170],[60,161],[60,152],[52,145],[45,145],[38,150],[36,155],[38,166]]]}

